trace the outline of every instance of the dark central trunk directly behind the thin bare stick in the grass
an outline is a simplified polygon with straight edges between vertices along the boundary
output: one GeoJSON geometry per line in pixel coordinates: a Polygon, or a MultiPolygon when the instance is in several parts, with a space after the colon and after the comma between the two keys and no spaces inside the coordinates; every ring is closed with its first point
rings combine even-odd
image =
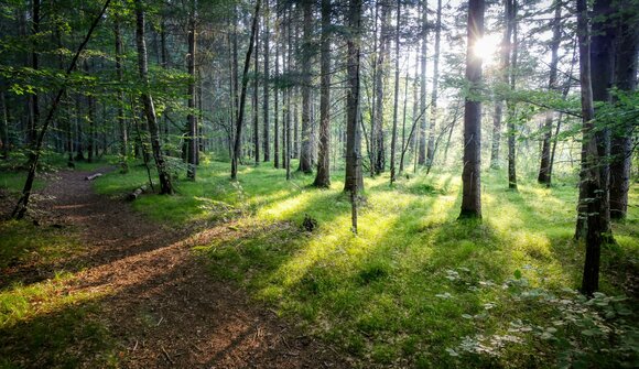
{"type": "MultiPolygon", "coordinates": [[[[348,25],[350,37],[347,44],[347,90],[346,90],[346,178],[344,191],[350,192],[353,198],[364,189],[361,176],[361,129],[359,119],[359,58],[361,34],[361,0],[348,3],[348,25]]],[[[354,206],[356,204],[354,203],[354,206]]],[[[356,225],[354,225],[356,228],[356,225]]]]}

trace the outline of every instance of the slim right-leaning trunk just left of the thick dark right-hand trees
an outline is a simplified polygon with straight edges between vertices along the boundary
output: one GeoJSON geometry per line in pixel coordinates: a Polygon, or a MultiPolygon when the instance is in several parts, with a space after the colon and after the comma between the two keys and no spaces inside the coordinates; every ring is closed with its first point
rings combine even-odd
{"type": "MultiPolygon", "coordinates": [[[[556,91],[557,88],[557,64],[559,64],[559,46],[562,36],[562,3],[561,1],[555,1],[554,3],[554,20],[552,25],[552,41],[550,43],[551,48],[551,61],[550,61],[550,75],[548,82],[549,91],[556,91]]],[[[543,144],[541,149],[541,163],[539,167],[539,175],[537,182],[540,184],[550,185],[550,156],[551,156],[551,140],[552,140],[552,122],[554,120],[554,111],[549,110],[545,112],[545,123],[543,127],[543,144]]]]}

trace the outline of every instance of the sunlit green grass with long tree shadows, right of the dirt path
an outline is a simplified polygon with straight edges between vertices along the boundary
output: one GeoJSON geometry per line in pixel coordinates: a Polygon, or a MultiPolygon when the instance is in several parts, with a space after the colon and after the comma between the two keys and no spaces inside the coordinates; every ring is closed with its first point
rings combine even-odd
{"type": "MultiPolygon", "coordinates": [[[[484,221],[477,224],[456,220],[456,172],[402,178],[393,188],[386,175],[366,178],[354,237],[342,178],[334,173],[329,189],[315,189],[312,176],[295,174],[286,182],[283,171],[263,164],[242,167],[234,183],[228,164],[206,163],[197,182],[176,182],[177,195],[147,195],[133,206],[171,225],[236,219],[225,235],[195,248],[212,273],[243,284],[365,367],[472,366],[456,352],[478,334],[508,340],[513,322],[542,327],[562,314],[552,304],[522,303],[502,283],[518,275],[543,291],[580,284],[584,248],[572,240],[574,183],[549,189],[523,180],[511,192],[503,173],[485,173],[484,221]],[[317,220],[315,231],[301,230],[305,215],[317,220]]],[[[134,167],[95,185],[104,194],[122,194],[145,181],[145,172],[134,167]]],[[[638,203],[637,185],[630,197],[638,203]]],[[[618,245],[604,249],[607,294],[622,293],[626,278],[637,273],[638,218],[630,207],[628,220],[614,228],[618,245]]],[[[544,367],[559,360],[559,349],[537,338],[488,346],[492,351],[476,354],[474,366],[544,367]]]]}

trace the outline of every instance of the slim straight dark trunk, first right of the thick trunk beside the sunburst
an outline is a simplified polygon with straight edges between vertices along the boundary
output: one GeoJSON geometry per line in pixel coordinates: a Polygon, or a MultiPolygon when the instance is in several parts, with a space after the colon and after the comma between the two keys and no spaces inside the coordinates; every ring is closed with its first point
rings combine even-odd
{"type": "MultiPolygon", "coordinates": [[[[509,22],[512,24],[512,55],[510,63],[510,90],[513,93],[517,80],[517,54],[518,54],[518,37],[517,37],[517,0],[511,1],[511,13],[509,22]]],[[[508,108],[508,188],[517,191],[517,102],[512,100],[506,101],[508,108]]]]}

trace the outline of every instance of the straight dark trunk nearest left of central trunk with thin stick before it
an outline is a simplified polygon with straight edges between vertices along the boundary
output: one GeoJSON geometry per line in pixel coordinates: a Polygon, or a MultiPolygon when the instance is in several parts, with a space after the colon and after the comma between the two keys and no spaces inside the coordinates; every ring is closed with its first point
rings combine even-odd
{"type": "Polygon", "coordinates": [[[331,187],[331,0],[322,0],[320,151],[316,187],[331,187]]]}

